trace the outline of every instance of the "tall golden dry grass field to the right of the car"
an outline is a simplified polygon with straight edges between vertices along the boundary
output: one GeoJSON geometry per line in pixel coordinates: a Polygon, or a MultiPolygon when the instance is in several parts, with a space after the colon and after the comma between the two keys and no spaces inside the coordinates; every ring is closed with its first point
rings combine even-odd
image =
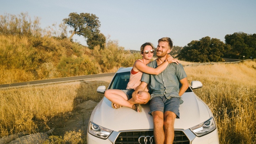
{"type": "Polygon", "coordinates": [[[220,144],[256,144],[256,61],[185,67],[195,93],[210,107],[220,144]]]}

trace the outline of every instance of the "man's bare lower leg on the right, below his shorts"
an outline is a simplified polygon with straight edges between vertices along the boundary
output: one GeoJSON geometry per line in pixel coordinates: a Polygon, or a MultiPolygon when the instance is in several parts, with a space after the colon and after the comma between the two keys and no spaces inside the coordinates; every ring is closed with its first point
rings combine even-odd
{"type": "Polygon", "coordinates": [[[174,120],[176,119],[176,114],[172,111],[164,112],[164,144],[172,144],[174,140],[174,120]]]}

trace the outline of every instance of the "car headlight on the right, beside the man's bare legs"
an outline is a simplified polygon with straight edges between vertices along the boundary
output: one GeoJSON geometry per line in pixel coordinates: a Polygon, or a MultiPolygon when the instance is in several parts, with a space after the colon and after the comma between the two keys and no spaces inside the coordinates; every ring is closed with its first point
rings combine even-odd
{"type": "Polygon", "coordinates": [[[212,117],[210,119],[208,119],[207,121],[190,128],[190,130],[196,136],[203,136],[205,134],[209,134],[210,132],[214,131],[215,129],[216,129],[216,125],[215,125],[215,121],[212,117]]]}

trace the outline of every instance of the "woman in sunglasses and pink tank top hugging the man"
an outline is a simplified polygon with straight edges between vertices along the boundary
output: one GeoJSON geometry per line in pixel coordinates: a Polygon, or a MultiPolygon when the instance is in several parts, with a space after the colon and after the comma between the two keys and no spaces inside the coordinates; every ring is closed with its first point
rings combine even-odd
{"type": "Polygon", "coordinates": [[[157,68],[151,68],[147,66],[150,63],[151,58],[153,58],[154,46],[152,43],[144,43],[141,45],[141,56],[142,59],[138,59],[133,64],[131,70],[130,80],[127,84],[126,90],[119,89],[108,89],[105,91],[105,97],[112,102],[112,107],[118,109],[121,106],[127,106],[137,112],[141,112],[141,105],[146,104],[150,99],[150,94],[148,90],[140,91],[141,96],[138,101],[134,101],[132,98],[132,93],[134,89],[141,83],[142,73],[148,73],[153,75],[158,75],[168,66],[169,63],[175,62],[179,63],[177,59],[172,58],[168,55],[166,61],[159,65],[157,68]]]}

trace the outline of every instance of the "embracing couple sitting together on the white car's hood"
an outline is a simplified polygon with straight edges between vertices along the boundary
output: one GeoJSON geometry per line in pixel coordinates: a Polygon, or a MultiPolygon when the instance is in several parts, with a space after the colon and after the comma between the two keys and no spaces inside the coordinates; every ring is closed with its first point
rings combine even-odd
{"type": "Polygon", "coordinates": [[[128,106],[140,112],[140,104],[146,104],[151,100],[149,114],[153,116],[156,144],[172,144],[174,120],[179,118],[179,104],[182,103],[180,96],[189,86],[183,66],[168,55],[172,47],[170,38],[159,39],[156,48],[158,58],[150,63],[154,46],[151,43],[144,43],[141,46],[143,58],[134,63],[127,89],[105,91],[105,97],[112,101],[115,109],[128,106]],[[182,84],[180,88],[179,83],[182,84]],[[147,85],[151,89],[151,95],[148,93],[147,85]]]}

